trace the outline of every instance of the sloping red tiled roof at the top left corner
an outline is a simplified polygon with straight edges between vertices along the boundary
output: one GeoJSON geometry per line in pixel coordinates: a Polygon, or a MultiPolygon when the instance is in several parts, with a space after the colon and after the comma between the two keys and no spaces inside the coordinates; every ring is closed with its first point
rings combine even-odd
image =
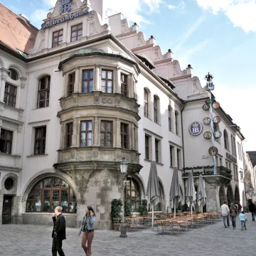
{"type": "Polygon", "coordinates": [[[0,4],[0,43],[28,53],[36,41],[37,33],[38,28],[0,4]]]}

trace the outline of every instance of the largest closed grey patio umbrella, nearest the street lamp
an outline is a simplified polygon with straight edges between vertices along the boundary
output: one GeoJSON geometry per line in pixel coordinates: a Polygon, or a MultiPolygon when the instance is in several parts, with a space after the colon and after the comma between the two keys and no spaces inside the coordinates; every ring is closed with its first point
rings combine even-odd
{"type": "Polygon", "coordinates": [[[152,229],[154,229],[154,206],[160,202],[159,179],[156,162],[151,161],[149,181],[146,188],[147,204],[152,208],[152,229]]]}

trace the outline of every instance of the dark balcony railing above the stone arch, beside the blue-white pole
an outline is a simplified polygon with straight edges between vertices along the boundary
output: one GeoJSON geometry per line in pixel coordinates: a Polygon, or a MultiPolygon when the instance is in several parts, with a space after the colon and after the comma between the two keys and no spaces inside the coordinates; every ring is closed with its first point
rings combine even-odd
{"type": "MultiPolygon", "coordinates": [[[[213,175],[213,166],[200,166],[200,167],[191,167],[183,169],[183,178],[188,177],[188,174],[192,171],[193,176],[199,176],[202,174],[203,176],[213,175]]],[[[224,166],[216,167],[216,175],[225,176],[226,178],[232,179],[232,171],[224,166]]]]}

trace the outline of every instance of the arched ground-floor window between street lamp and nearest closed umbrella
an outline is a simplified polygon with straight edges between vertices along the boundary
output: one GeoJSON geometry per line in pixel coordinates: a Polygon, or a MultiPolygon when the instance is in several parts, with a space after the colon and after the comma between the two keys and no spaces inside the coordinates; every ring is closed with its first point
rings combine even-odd
{"type": "Polygon", "coordinates": [[[139,205],[142,201],[139,184],[133,178],[128,178],[127,180],[127,186],[125,187],[125,201],[127,201],[132,211],[137,211],[139,210],[139,205]]]}

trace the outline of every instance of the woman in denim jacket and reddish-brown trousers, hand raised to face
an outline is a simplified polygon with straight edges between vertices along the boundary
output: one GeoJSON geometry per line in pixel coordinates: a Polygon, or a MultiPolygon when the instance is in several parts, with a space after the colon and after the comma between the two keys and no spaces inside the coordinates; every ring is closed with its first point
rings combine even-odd
{"type": "Polygon", "coordinates": [[[96,220],[95,211],[91,206],[85,208],[85,216],[82,218],[80,230],[78,235],[82,234],[82,249],[85,251],[86,256],[92,255],[92,239],[94,238],[94,223],[96,220]],[[87,246],[86,246],[87,242],[87,246]]]}

